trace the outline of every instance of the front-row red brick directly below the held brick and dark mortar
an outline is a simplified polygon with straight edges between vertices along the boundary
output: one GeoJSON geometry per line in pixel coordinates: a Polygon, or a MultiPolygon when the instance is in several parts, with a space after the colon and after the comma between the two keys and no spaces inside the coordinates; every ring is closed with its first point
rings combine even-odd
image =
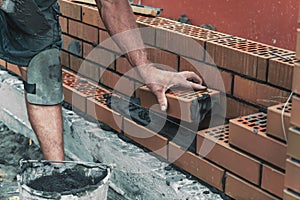
{"type": "Polygon", "coordinates": [[[124,118],[124,134],[133,141],[167,159],[168,140],[132,120],[124,118]]]}

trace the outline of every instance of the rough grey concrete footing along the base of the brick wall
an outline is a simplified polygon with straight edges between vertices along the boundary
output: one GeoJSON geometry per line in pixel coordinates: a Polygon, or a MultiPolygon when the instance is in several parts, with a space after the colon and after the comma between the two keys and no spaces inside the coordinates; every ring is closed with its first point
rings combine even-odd
{"type": "MultiPolygon", "coordinates": [[[[0,96],[0,120],[36,142],[26,116],[22,82],[0,71],[0,96]]],[[[63,113],[66,155],[73,160],[102,161],[114,166],[110,187],[119,195],[111,199],[228,199],[117,134],[100,129],[99,123],[70,110],[63,109],[63,113]]]]}

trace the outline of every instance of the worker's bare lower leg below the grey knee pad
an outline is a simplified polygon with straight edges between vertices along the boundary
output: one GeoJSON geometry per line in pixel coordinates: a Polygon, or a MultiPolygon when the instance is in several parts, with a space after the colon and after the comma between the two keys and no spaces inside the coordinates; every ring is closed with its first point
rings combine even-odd
{"type": "MultiPolygon", "coordinates": [[[[20,67],[22,78],[27,81],[27,71],[25,69],[20,67]]],[[[25,99],[28,118],[39,140],[44,159],[64,160],[61,103],[54,105],[33,104],[28,101],[27,93],[25,93],[25,99]]]]}

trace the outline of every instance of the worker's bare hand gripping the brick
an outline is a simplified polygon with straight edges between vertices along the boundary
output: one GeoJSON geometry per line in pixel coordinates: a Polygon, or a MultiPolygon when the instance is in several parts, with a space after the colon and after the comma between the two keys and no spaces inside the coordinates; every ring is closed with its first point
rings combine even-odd
{"type": "Polygon", "coordinates": [[[173,86],[181,86],[186,88],[193,88],[195,90],[206,89],[203,86],[203,80],[194,72],[171,72],[160,70],[154,64],[139,66],[138,72],[144,79],[147,87],[155,94],[160,108],[166,111],[168,102],[166,98],[166,91],[173,86]]]}

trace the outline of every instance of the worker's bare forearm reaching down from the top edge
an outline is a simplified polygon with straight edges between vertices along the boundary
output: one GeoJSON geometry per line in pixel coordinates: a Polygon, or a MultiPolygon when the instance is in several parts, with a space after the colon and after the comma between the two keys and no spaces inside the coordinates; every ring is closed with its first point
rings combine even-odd
{"type": "Polygon", "coordinates": [[[131,65],[148,64],[144,43],[128,0],[96,0],[96,2],[109,34],[113,36],[131,65]]]}

